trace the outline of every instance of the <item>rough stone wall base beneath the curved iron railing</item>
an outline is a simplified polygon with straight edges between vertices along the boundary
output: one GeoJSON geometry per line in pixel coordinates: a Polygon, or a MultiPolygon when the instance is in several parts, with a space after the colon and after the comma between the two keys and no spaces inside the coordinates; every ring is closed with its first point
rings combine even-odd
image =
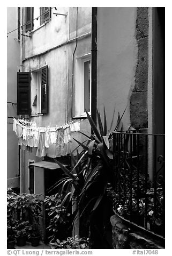
{"type": "Polygon", "coordinates": [[[110,218],[113,233],[113,248],[114,249],[163,249],[161,242],[157,239],[152,239],[144,231],[136,231],[129,227],[117,215],[110,218]]]}

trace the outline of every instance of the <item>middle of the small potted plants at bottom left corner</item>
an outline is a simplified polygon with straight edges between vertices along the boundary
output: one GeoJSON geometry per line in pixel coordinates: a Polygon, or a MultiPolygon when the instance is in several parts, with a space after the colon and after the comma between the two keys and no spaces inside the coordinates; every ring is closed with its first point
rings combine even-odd
{"type": "Polygon", "coordinates": [[[16,221],[16,240],[18,246],[26,245],[26,237],[31,229],[28,221],[16,221]]]}

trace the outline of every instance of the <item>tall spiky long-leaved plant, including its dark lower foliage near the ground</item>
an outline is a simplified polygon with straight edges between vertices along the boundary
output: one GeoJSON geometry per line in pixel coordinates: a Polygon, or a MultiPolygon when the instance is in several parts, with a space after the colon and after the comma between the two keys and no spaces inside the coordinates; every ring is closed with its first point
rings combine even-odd
{"type": "MultiPolygon", "coordinates": [[[[98,240],[98,236],[104,236],[103,221],[106,222],[109,218],[106,212],[101,211],[101,209],[102,205],[107,202],[107,183],[111,181],[113,186],[115,183],[112,132],[122,128],[121,120],[124,115],[124,112],[122,116],[118,113],[117,122],[114,124],[114,108],[113,119],[108,130],[105,109],[103,112],[104,116],[101,119],[100,112],[97,110],[98,126],[96,126],[86,111],[93,134],[88,136],[88,134],[80,132],[87,138],[83,143],[73,138],[78,143],[78,147],[83,148],[83,150],[80,152],[77,147],[71,152],[70,169],[55,159],[65,175],[62,180],[52,186],[53,188],[58,187],[58,194],[64,196],[61,207],[69,208],[69,202],[74,201],[76,210],[72,214],[74,219],[72,225],[74,227],[78,222],[79,230],[84,231],[80,232],[82,237],[87,237],[89,234],[89,241],[91,241],[90,244],[93,248],[97,246],[95,241],[98,240]],[[87,222],[83,219],[86,219],[87,222]]],[[[102,241],[103,239],[101,246],[102,241]]]]}

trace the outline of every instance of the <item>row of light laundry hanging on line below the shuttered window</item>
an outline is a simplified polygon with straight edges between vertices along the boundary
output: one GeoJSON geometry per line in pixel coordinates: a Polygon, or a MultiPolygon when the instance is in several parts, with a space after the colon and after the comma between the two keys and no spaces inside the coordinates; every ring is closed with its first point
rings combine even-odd
{"type": "Polygon", "coordinates": [[[28,152],[37,148],[36,156],[61,157],[70,153],[71,133],[80,131],[80,122],[69,122],[55,127],[36,126],[36,122],[13,118],[13,131],[18,137],[18,144],[28,152]],[[53,153],[52,153],[53,152],[53,153]]]}

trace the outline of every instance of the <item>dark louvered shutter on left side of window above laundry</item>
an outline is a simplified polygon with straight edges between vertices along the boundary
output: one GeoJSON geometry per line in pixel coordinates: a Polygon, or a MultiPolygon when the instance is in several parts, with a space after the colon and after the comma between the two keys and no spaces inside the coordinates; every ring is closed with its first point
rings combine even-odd
{"type": "Polygon", "coordinates": [[[17,115],[31,113],[31,73],[17,72],[17,115]]]}

